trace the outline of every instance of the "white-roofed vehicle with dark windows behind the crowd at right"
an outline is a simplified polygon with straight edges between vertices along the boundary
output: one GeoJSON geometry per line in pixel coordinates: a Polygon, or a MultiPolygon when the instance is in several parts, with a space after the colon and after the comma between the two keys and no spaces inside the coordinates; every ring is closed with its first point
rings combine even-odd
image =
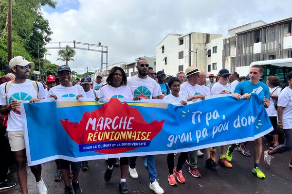
{"type": "Polygon", "coordinates": [[[292,58],[286,59],[274,59],[267,61],[256,61],[249,66],[237,67],[237,70],[241,72],[239,75],[249,74],[249,70],[254,65],[262,65],[264,68],[264,75],[262,76],[262,82],[266,83],[268,76],[277,76],[280,79],[281,85],[287,82],[287,74],[292,71],[292,58]]]}

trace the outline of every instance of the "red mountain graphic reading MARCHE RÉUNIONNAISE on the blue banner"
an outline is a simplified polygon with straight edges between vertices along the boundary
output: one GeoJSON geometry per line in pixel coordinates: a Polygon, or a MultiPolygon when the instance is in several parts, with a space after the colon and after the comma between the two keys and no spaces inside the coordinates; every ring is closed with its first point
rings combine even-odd
{"type": "MultiPolygon", "coordinates": [[[[151,116],[151,115],[147,115],[151,116]]],[[[147,123],[142,114],[126,102],[111,98],[101,108],[85,112],[80,123],[61,120],[63,128],[79,150],[103,154],[127,152],[149,146],[163,128],[163,121],[147,123]]]]}

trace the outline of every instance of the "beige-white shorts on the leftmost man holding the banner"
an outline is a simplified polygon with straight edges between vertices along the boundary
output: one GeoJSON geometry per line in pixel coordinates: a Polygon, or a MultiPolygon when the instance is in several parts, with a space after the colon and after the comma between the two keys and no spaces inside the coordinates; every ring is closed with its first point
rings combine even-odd
{"type": "Polygon", "coordinates": [[[8,131],[8,139],[11,151],[19,151],[25,148],[23,130],[8,131]]]}

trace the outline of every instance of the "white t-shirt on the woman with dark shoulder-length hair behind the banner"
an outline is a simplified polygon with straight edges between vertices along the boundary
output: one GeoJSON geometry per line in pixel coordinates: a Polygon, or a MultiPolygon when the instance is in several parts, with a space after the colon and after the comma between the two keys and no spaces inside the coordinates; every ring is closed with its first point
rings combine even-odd
{"type": "Polygon", "coordinates": [[[105,85],[101,88],[98,97],[133,98],[133,95],[131,89],[126,85],[121,85],[118,88],[105,85]]]}

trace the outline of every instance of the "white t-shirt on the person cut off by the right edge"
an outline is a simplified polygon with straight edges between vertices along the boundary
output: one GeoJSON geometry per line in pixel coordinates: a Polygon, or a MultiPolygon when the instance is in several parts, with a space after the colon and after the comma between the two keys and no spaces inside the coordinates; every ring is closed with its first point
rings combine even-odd
{"type": "Polygon", "coordinates": [[[292,129],[292,89],[284,88],[279,94],[278,106],[283,109],[283,129],[292,129]]]}

